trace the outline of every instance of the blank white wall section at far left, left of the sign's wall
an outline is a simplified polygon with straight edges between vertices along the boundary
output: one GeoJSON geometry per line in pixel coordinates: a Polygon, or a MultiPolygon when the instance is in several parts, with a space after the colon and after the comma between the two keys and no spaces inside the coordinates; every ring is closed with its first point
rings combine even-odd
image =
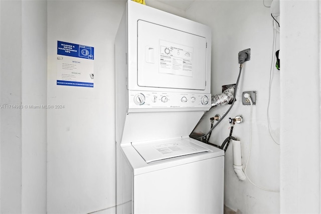
{"type": "Polygon", "coordinates": [[[1,1],[1,213],[46,212],[46,10],[1,1]]]}

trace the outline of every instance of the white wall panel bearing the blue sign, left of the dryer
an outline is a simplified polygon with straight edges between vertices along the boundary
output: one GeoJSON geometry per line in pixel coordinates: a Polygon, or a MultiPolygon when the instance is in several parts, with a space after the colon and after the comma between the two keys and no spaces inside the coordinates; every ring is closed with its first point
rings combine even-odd
{"type": "Polygon", "coordinates": [[[48,213],[114,206],[114,39],[125,1],[48,1],[48,213]],[[57,41],[95,48],[94,88],[57,86],[57,41]]]}

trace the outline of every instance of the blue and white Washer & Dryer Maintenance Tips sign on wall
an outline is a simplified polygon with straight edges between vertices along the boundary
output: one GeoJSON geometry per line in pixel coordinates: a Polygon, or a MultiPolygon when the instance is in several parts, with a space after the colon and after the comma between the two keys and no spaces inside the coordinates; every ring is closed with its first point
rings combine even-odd
{"type": "Polygon", "coordinates": [[[57,85],[94,87],[94,47],[57,42],[57,85]]]}

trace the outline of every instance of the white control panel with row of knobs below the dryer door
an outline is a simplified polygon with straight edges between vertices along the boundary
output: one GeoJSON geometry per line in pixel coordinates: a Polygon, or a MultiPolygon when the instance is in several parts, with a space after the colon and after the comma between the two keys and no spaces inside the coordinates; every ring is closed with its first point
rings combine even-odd
{"type": "Polygon", "coordinates": [[[211,107],[211,94],[128,91],[128,99],[130,109],[211,107]]]}

